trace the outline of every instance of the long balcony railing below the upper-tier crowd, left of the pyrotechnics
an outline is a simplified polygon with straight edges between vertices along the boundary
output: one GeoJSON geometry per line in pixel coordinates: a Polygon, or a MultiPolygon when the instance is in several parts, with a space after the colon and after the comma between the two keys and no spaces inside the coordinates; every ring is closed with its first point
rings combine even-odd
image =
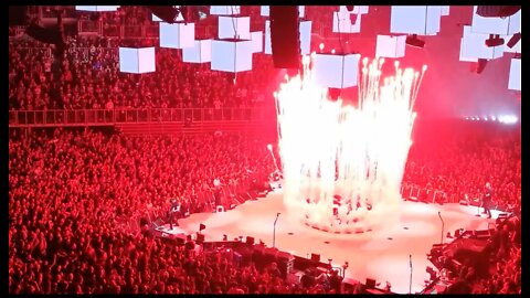
{"type": "Polygon", "coordinates": [[[116,108],[10,110],[9,127],[112,126],[117,124],[169,124],[204,121],[263,121],[263,108],[116,108]]]}

